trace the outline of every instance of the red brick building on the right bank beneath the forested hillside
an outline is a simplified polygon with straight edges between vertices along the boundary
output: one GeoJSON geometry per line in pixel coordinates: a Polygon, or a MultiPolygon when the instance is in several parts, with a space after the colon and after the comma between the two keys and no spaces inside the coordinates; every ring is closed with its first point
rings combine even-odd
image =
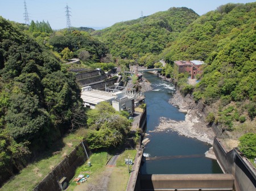
{"type": "Polygon", "coordinates": [[[202,66],[205,63],[203,61],[174,61],[174,76],[177,77],[177,74],[187,73],[188,76],[192,79],[196,78],[196,74],[202,73],[202,66]]]}

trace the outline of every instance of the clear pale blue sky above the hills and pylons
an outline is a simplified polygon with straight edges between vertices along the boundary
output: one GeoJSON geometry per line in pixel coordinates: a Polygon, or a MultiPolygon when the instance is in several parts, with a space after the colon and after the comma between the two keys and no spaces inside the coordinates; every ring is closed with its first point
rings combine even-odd
{"type": "MultiPolygon", "coordinates": [[[[170,7],[188,7],[203,15],[226,3],[248,3],[250,0],[26,0],[30,20],[44,20],[53,29],[67,26],[65,6],[71,7],[73,27],[110,27],[114,23],[166,11],[170,7]]],[[[1,0],[0,15],[24,23],[24,0],[1,0]]]]}

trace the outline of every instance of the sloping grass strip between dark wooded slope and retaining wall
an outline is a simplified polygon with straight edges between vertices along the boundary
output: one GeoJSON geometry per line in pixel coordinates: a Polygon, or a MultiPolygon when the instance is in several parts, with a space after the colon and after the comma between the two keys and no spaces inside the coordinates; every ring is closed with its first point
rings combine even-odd
{"type": "Polygon", "coordinates": [[[75,146],[79,145],[81,142],[80,136],[84,134],[84,131],[85,129],[79,129],[76,133],[64,137],[60,142],[56,143],[56,145],[60,147],[52,147],[51,150],[44,152],[34,163],[27,165],[18,175],[14,176],[12,180],[3,185],[0,190],[33,190],[35,186],[75,148],[75,146]],[[57,154],[53,154],[53,152],[57,154]]]}

